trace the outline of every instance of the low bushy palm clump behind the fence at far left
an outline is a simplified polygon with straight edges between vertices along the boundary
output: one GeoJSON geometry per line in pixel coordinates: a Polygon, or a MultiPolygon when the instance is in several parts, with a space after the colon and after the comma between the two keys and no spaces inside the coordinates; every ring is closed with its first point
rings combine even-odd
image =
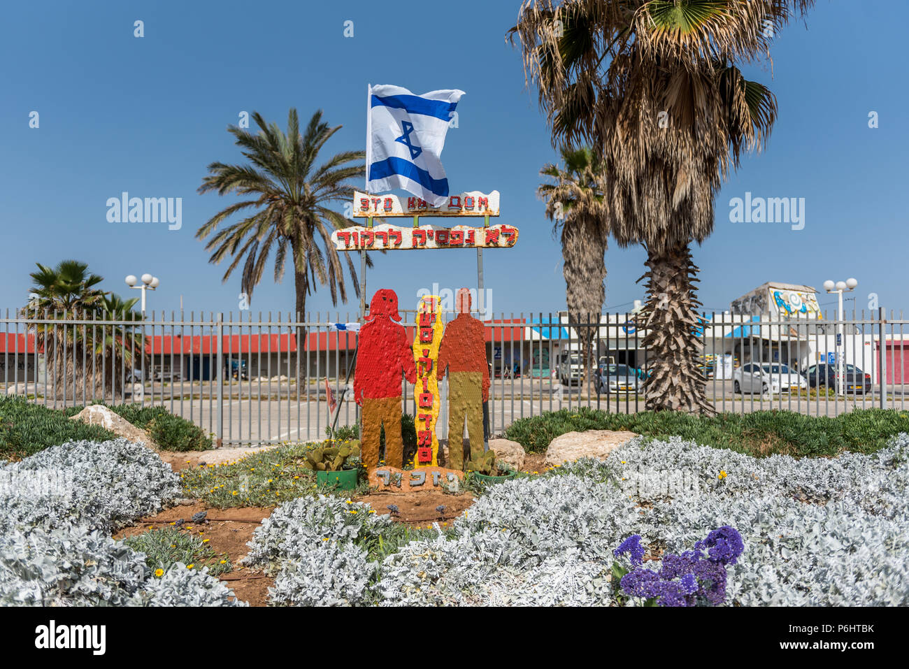
{"type": "Polygon", "coordinates": [[[36,265],[29,302],[20,311],[35,321],[36,343],[53,369],[55,399],[115,399],[122,393],[124,370],[132,370],[135,354],[141,354],[142,336],[129,326],[101,322],[141,321],[133,311],[136,298],[105,294],[95,287],[103,277],[76,260],[36,265]]]}

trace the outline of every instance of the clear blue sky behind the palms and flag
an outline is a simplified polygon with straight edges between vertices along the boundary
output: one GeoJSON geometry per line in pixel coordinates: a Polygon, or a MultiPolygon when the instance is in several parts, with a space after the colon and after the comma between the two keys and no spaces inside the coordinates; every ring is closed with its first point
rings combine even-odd
{"type": "MultiPolygon", "coordinates": [[[[35,262],[87,262],[102,287],[125,295],[127,274],[150,272],[160,288],[149,309],[237,311],[239,276],[210,265],[195,230],[230,203],[196,188],[206,165],[242,156],[225,128],[241,111],[285,126],[295,106],[308,120],[344,127],[325,156],[365,145],[367,83],[415,93],[466,92],[443,160],[452,192],[497,189],[500,223],[520,241],[485,256],[494,312],[564,309],[558,242],[535,197],[538,171],[555,159],[535,93],[525,88],[517,48],[504,40],[519,0],[315,2],[11,3],[0,25],[0,310],[23,305],[35,262]],[[134,37],[134,22],[145,36],[134,37]],[[345,21],[354,36],[345,37],[345,21]],[[40,127],[29,127],[37,111],[40,127]],[[105,201],[121,192],[182,197],[183,227],[112,224],[105,201]]],[[[748,156],[716,200],[714,235],[695,247],[708,310],[765,281],[820,288],[854,276],[855,306],[909,306],[906,282],[905,155],[909,92],[904,26],[909,4],[818,0],[807,26],[774,41],[772,68],[746,70],[769,85],[780,115],[766,151],[748,156]],[[876,112],[879,127],[868,127],[876,112]],[[804,197],[805,225],[734,224],[729,202],[745,192],[804,197]]],[[[362,187],[362,185],[361,185],[362,187]]],[[[340,210],[339,205],[339,210],[340,210]]],[[[644,251],[606,253],[606,306],[624,311],[643,286],[644,251]]],[[[376,255],[367,295],[390,287],[403,305],[434,284],[474,285],[473,251],[376,255]]],[[[307,302],[333,307],[327,289],[307,302]]],[[[832,308],[821,295],[822,308],[832,308]]],[[[292,310],[292,275],[271,272],[255,290],[258,311],[292,310]]]]}

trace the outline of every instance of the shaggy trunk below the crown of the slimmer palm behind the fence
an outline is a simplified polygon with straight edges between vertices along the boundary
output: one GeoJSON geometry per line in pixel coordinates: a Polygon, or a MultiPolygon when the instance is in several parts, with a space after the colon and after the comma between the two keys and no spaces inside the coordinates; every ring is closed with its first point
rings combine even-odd
{"type": "Polygon", "coordinates": [[[593,344],[603,313],[606,292],[606,235],[592,217],[577,217],[562,227],[562,274],[565,279],[565,301],[568,305],[568,325],[574,328],[581,344],[584,364],[582,383],[587,396],[595,394],[593,344]]]}

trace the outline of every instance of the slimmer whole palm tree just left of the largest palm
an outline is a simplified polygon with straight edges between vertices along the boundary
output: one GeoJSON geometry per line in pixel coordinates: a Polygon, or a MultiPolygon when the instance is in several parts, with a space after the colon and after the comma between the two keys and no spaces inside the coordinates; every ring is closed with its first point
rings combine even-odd
{"type": "Polygon", "coordinates": [[[584,382],[588,396],[593,389],[594,335],[605,299],[604,255],[608,237],[608,218],[604,197],[604,175],[589,147],[562,148],[563,167],[544,165],[540,175],[554,183],[540,185],[536,194],[546,203],[546,217],[554,222],[553,235],[562,228],[562,273],[568,324],[581,342],[584,382]]]}

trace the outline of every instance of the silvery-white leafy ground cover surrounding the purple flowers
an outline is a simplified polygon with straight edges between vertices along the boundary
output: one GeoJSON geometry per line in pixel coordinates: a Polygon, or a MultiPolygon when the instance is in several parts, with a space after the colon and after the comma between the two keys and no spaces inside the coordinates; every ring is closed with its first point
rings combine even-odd
{"type": "Polygon", "coordinates": [[[905,605],[907,457],[906,434],[872,455],[802,460],[638,438],[607,463],[494,485],[451,531],[381,562],[365,546],[387,515],[301,497],[256,529],[247,561],[276,574],[273,604],[608,605],[624,538],[659,557],[732,525],[744,554],[726,604],[905,605]]]}

